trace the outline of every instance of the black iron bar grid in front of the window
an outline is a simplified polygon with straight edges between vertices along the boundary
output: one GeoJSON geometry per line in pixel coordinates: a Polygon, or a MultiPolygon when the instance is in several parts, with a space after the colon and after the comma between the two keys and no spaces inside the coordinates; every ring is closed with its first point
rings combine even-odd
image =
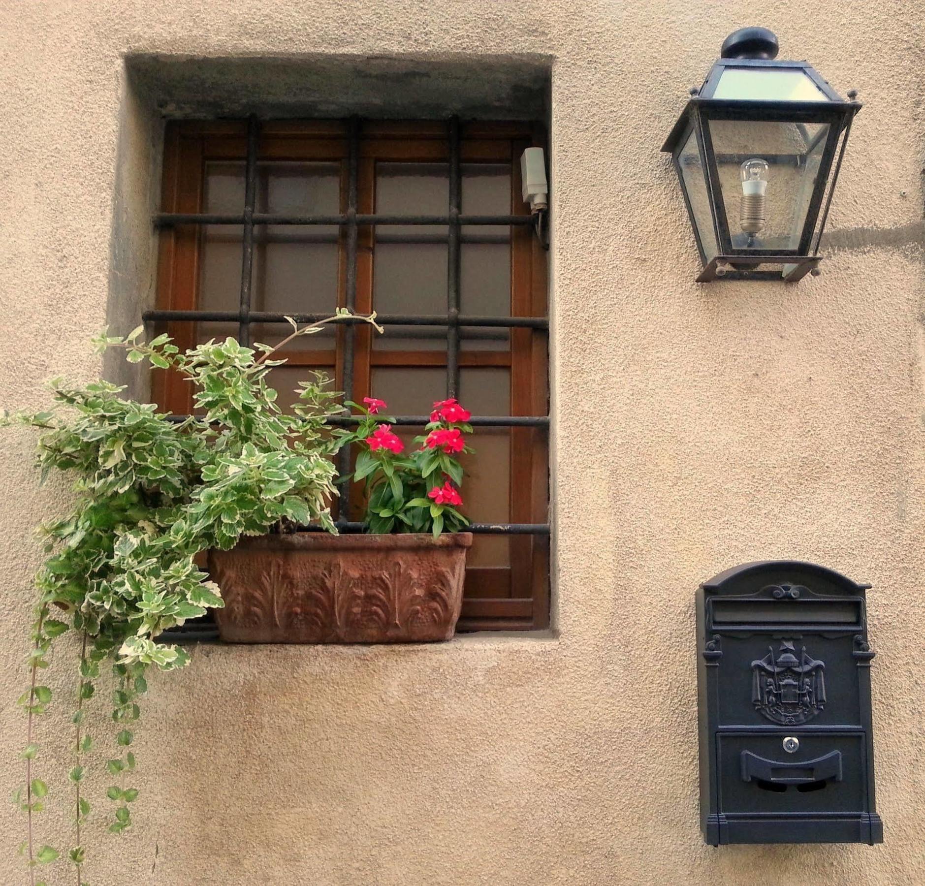
{"type": "MultiPolygon", "coordinates": [[[[284,323],[284,314],[275,314],[251,309],[253,278],[253,228],[255,225],[339,225],[346,228],[346,307],[356,310],[356,267],[357,267],[357,233],[362,225],[446,225],[448,226],[448,268],[447,268],[447,314],[378,314],[376,322],[382,326],[445,326],[447,330],[447,397],[456,397],[459,389],[459,351],[460,327],[524,327],[536,330],[548,330],[549,320],[545,317],[492,317],[460,314],[460,242],[463,225],[530,225],[535,224],[532,215],[462,215],[462,187],[460,161],[460,126],[456,117],[449,121],[449,176],[450,200],[447,215],[360,215],[357,213],[357,179],[360,155],[360,124],[351,118],[348,137],[348,185],[347,211],[341,215],[274,215],[254,211],[256,203],[257,154],[260,137],[260,121],[250,117],[247,128],[247,156],[245,163],[244,207],[240,214],[215,213],[157,213],[154,224],[157,228],[173,225],[241,225],[242,260],[240,277],[240,309],[234,311],[181,311],[151,310],[143,314],[145,324],[155,322],[237,322],[239,340],[242,344],[251,343],[251,325],[254,323],[284,323]]],[[[323,319],[327,314],[288,314],[298,323],[312,323],[323,319]]],[[[353,325],[361,322],[350,317],[336,321],[353,325]]],[[[402,335],[414,337],[415,330],[403,330],[402,335]]],[[[420,332],[419,332],[420,334],[420,332]]],[[[353,351],[352,336],[345,336],[342,351],[342,379],[340,388],[347,399],[352,399],[353,388],[353,351]]],[[[334,419],[332,424],[348,425],[356,422],[351,417],[334,419]]],[[[429,421],[425,415],[396,416],[396,425],[425,425],[429,421]]],[[[537,427],[548,428],[548,415],[506,415],[479,417],[471,421],[475,426],[500,427],[537,427]]],[[[346,449],[339,454],[339,472],[350,472],[350,452],[346,449]]],[[[342,510],[338,527],[344,532],[359,532],[364,523],[352,522],[349,517],[350,503],[348,497],[341,499],[342,510]]],[[[311,527],[307,527],[311,528],[311,527]]],[[[485,535],[549,535],[549,523],[473,523],[471,531],[485,535]]]]}

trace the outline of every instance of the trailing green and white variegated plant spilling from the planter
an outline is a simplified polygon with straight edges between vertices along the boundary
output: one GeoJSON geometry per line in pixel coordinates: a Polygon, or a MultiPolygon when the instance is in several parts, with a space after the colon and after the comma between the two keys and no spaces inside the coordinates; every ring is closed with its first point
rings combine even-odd
{"type": "MultiPolygon", "coordinates": [[[[75,478],[71,510],[41,527],[47,558],[35,578],[30,685],[19,698],[28,722],[26,778],[14,800],[28,818],[22,851],[33,886],[38,870],[61,855],[40,844],[33,821],[55,795],[41,777],[49,764],[36,734],[38,718],[53,705],[52,690],[40,679],[52,646],[63,634],[76,635],[76,687],[68,710],[74,728],[71,797],[65,801],[74,841],[67,855],[79,886],[86,886],[81,828],[97,806],[81,792],[84,776],[94,767],[112,776],[108,829],[128,828],[138,796],[130,783],[135,769],[130,748],[141,712],[138,699],[147,689],[145,672],[151,665],[181,668],[189,660],[183,648],[158,637],[208,607],[222,606],[197,555],[232,548],[241,535],[306,523],[336,531],[329,512],[335,494],[330,455],[339,440],[325,428],[341,411],[336,395],[325,387],[327,379],[316,376],[297,389],[294,414],[284,414],[266,376],[285,362],[268,359],[274,351],[345,314],[341,310],[302,328],[290,321],[293,332],[277,348],[246,348],[228,338],[181,353],[166,335],[144,342],[141,326],[126,338],[97,337],[98,351],[125,348],[129,362],[147,360],[189,380],[197,415],[180,422],[152,404],[124,400],[124,388],[103,381],[80,387],[60,379],[51,383],[50,412],[4,416],[4,424],[42,430],[43,479],[51,471],[75,478]],[[104,738],[100,719],[91,714],[105,695],[99,690],[108,671],[115,725],[104,738]]],[[[375,314],[354,319],[376,326],[375,314]]]]}

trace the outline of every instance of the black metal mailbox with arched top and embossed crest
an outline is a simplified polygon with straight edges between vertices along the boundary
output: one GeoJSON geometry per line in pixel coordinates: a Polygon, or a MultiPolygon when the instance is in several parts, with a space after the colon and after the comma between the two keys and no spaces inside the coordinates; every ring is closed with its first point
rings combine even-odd
{"type": "Polygon", "coordinates": [[[700,585],[707,843],[882,843],[868,587],[791,560],[746,563],[700,585]]]}

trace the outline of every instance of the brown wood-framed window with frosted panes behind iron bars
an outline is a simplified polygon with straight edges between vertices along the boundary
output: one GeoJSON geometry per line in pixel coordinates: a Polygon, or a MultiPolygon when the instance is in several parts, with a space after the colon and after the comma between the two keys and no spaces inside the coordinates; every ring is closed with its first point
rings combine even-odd
{"type": "MultiPolygon", "coordinates": [[[[352,400],[386,400],[406,439],[433,400],[457,396],[473,413],[463,631],[549,624],[547,258],[519,162],[536,131],[253,117],[166,129],[149,325],[184,348],[273,343],[284,314],[376,310],[384,336],[339,324],[288,346],[280,399],[319,369],[352,400]]],[[[153,387],[164,409],[190,412],[179,377],[155,370],[153,387]]],[[[360,494],[340,505],[347,531],[360,528],[360,494]]]]}

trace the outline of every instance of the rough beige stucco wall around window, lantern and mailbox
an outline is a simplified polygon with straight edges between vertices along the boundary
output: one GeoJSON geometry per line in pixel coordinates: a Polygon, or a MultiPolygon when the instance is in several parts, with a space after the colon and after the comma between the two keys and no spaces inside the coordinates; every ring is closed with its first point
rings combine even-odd
{"type": "MultiPolygon", "coordinates": [[[[555,631],[200,649],[152,681],[137,827],[86,841],[93,886],[925,881],[919,4],[2,0],[0,21],[6,406],[43,403],[48,375],[97,372],[86,337],[107,314],[128,327],[149,297],[156,128],[126,54],[552,65],[555,631]],[[823,274],[794,287],[693,282],[658,150],[745,24],[866,103],[823,274]],[[874,585],[881,846],[700,838],[694,589],[777,557],[874,585]]],[[[31,527],[62,500],[36,491],[31,447],[0,437],[5,794],[24,743],[31,527]]],[[[56,721],[43,740],[67,762],[56,721]]],[[[21,832],[0,807],[5,884],[26,882],[21,832]]],[[[71,882],[58,868],[50,881],[71,882]]]]}

